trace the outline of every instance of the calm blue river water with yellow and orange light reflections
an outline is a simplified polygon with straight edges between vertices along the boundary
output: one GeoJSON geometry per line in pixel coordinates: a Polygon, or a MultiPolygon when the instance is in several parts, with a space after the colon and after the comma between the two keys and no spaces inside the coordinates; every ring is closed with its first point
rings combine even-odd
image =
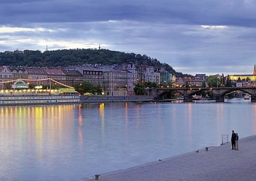
{"type": "Polygon", "coordinates": [[[0,107],[0,180],[79,180],[256,133],[256,104],[94,103],[0,107]]]}

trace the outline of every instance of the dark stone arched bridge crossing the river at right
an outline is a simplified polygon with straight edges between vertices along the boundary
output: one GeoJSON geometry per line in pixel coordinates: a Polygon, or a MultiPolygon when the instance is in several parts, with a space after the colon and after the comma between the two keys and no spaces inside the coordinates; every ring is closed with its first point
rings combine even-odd
{"type": "Polygon", "coordinates": [[[155,97],[155,99],[164,99],[165,94],[168,92],[179,92],[184,97],[184,102],[191,102],[193,95],[197,92],[212,92],[215,94],[216,102],[224,102],[224,96],[230,92],[234,91],[245,92],[251,95],[251,101],[256,102],[256,87],[207,87],[207,88],[155,88],[150,89],[150,96],[155,97]]]}

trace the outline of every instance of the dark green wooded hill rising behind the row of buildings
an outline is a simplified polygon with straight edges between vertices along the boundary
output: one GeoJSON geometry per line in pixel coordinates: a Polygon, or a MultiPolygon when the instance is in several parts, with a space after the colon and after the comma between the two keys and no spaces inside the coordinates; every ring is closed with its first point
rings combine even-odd
{"type": "Polygon", "coordinates": [[[0,65],[9,66],[39,66],[39,67],[65,67],[69,65],[96,64],[113,65],[133,62],[136,65],[148,65],[165,68],[177,77],[184,77],[181,72],[176,72],[172,66],[160,63],[155,58],[146,55],[110,51],[108,49],[62,49],[56,51],[31,51],[24,53],[0,53],[0,65]]]}

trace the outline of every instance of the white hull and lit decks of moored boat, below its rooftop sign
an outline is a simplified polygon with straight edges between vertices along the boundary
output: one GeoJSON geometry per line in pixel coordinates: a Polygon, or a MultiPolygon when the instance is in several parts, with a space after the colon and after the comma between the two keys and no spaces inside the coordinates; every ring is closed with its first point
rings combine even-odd
{"type": "Polygon", "coordinates": [[[0,106],[74,103],[80,103],[80,96],[72,89],[0,90],[0,106]]]}

